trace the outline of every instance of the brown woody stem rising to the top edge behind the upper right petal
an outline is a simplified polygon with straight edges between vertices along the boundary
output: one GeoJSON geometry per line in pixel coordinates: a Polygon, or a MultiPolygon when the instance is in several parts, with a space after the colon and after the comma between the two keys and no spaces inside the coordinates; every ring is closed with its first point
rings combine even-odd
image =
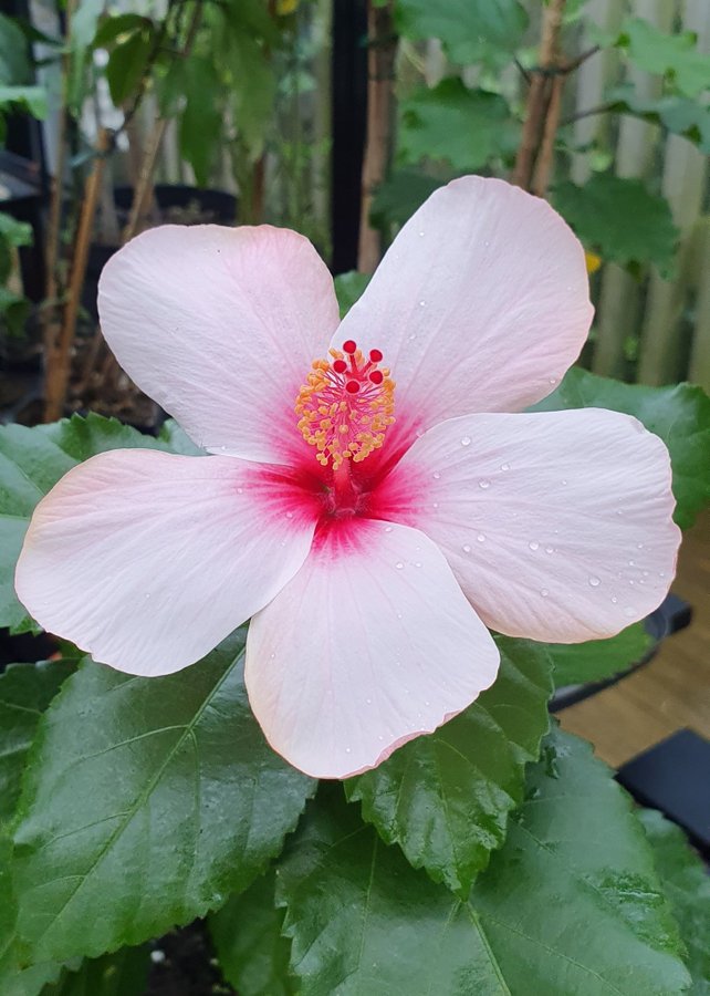
{"type": "MultiPolygon", "coordinates": [[[[525,124],[523,125],[523,134],[515,158],[515,168],[511,177],[514,184],[518,184],[519,187],[523,187],[524,189],[530,188],[537,151],[547,133],[546,120],[551,106],[554,105],[553,95],[555,89],[553,87],[553,72],[558,71],[561,68],[558,42],[565,2],[566,0],[550,0],[543,14],[542,35],[540,41],[540,66],[532,71],[533,79],[528,94],[525,124]]],[[[564,74],[561,75],[557,72],[554,75],[554,80],[564,81],[564,74]]],[[[560,86],[555,101],[558,101],[561,93],[562,89],[560,86]]],[[[556,115],[558,121],[558,108],[556,115]]],[[[547,173],[549,170],[550,167],[547,167],[547,173]]]]}

